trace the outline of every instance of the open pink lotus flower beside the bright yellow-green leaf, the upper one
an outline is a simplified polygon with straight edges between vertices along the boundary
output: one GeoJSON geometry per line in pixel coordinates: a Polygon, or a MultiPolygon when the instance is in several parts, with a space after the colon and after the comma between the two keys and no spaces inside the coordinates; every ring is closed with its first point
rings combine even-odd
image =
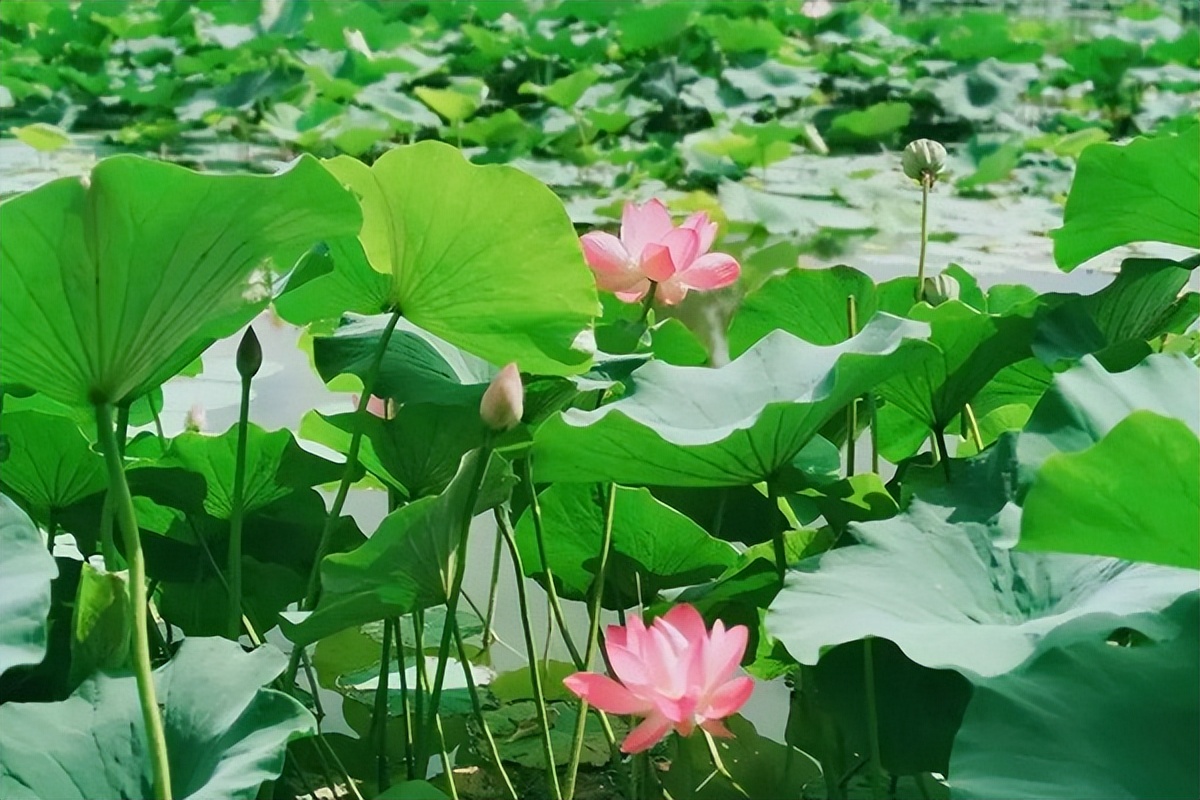
{"type": "Polygon", "coordinates": [[[728,253],[709,253],[716,223],[700,211],[676,228],[659,200],[626,203],[620,215],[620,237],[600,230],[583,234],[583,257],[596,276],[596,285],[625,302],[637,302],[658,283],[655,296],[668,306],[689,289],[708,291],[738,279],[742,266],[728,253]]]}

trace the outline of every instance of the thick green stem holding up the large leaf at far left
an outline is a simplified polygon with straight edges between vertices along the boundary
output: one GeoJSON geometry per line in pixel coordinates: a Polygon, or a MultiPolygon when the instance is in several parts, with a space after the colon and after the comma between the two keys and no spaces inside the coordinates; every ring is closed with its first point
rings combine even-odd
{"type": "Polygon", "coordinates": [[[133,497],[125,480],[125,465],[113,428],[113,407],[96,405],[96,432],[104,462],[108,464],[108,491],[113,495],[113,507],[125,540],[125,560],[130,566],[130,626],[133,634],[133,672],[138,684],[138,700],[142,704],[142,721],[150,744],[150,766],[154,774],[154,795],[157,800],[170,800],[170,763],[167,757],[167,735],[155,697],[154,670],[150,666],[150,636],[146,630],[146,565],[142,554],[142,537],[138,518],[133,511],[133,497]]]}

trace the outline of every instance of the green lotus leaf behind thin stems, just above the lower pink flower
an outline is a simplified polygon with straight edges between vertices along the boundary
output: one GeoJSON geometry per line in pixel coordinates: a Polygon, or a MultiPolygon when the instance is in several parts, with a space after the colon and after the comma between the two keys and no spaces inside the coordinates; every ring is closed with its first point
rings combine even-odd
{"type": "MultiPolygon", "coordinates": [[[[664,589],[710,581],[737,561],[732,546],[709,536],[648,489],[614,491],[605,608],[650,602],[664,589]]],[[[559,594],[569,600],[586,600],[595,579],[604,540],[605,495],[589,483],[556,483],[539,495],[546,560],[559,594]]],[[[545,584],[546,570],[528,511],[515,533],[526,575],[545,584]]]]}

